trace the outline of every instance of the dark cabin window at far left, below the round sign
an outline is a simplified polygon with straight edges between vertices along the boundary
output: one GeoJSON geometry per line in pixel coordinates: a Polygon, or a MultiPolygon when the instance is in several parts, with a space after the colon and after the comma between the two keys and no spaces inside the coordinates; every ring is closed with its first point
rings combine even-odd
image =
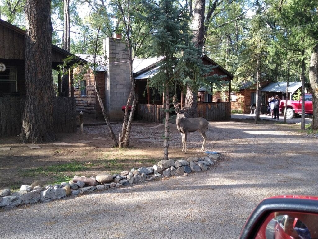
{"type": "Polygon", "coordinates": [[[14,96],[17,93],[17,68],[7,66],[0,72],[0,97],[14,96]]]}

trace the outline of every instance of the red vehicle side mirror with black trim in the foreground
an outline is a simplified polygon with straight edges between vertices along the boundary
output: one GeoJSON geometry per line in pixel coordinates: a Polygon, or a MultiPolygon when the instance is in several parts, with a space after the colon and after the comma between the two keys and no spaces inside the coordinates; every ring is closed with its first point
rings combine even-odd
{"type": "Polygon", "coordinates": [[[246,221],[240,238],[318,238],[318,197],[278,196],[263,200],[246,221]]]}

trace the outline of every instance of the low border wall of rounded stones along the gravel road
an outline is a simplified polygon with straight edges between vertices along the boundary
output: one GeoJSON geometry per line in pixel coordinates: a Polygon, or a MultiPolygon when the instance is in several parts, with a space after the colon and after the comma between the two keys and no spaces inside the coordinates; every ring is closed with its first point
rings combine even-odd
{"type": "Polygon", "coordinates": [[[42,187],[40,182],[35,181],[31,185],[22,185],[19,192],[10,192],[4,189],[0,192],[0,208],[14,207],[36,203],[39,201],[49,202],[66,196],[76,196],[81,193],[105,190],[113,187],[121,187],[157,178],[171,177],[175,175],[188,175],[191,172],[208,170],[218,160],[220,154],[211,153],[204,158],[190,157],[179,160],[161,160],[153,167],[141,167],[122,171],[121,174],[110,175],[102,173],[96,177],[74,177],[69,182],[42,187]]]}

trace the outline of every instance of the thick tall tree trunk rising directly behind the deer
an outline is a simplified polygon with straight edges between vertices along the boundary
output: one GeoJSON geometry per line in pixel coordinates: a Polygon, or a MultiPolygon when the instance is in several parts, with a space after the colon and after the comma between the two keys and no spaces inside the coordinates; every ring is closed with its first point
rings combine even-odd
{"type": "MultiPolygon", "coordinates": [[[[192,42],[195,47],[203,51],[205,0],[195,0],[194,5],[192,20],[194,36],[192,42]]],[[[189,118],[197,117],[197,92],[193,91],[189,86],[187,86],[185,105],[190,107],[190,110],[186,112],[186,116],[189,118]]]]}

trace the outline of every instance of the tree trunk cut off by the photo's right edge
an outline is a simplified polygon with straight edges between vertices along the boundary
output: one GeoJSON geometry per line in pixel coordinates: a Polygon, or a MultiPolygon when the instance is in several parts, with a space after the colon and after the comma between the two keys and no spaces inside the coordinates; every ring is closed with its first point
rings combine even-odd
{"type": "Polygon", "coordinates": [[[318,45],[315,46],[310,58],[309,81],[313,96],[312,129],[318,129],[318,45]]]}

